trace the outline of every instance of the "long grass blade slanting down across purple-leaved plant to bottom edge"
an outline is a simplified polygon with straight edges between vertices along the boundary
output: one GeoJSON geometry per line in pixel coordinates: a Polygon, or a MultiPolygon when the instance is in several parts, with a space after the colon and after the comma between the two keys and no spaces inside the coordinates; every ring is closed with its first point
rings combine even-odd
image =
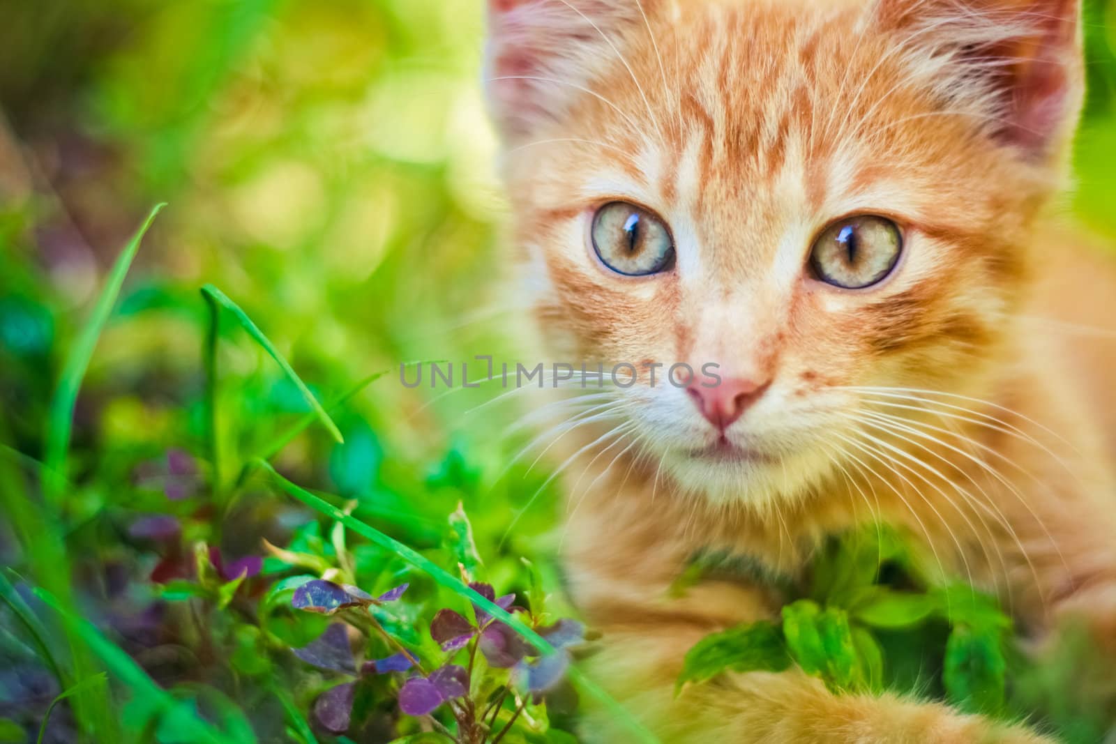
{"type": "MultiPolygon", "coordinates": [[[[529,641],[531,646],[537,648],[541,654],[550,656],[557,654],[558,650],[551,646],[542,636],[537,634],[533,629],[528,627],[522,620],[511,615],[502,607],[496,602],[491,602],[477,591],[468,587],[460,579],[454,578],[451,573],[439,567],[436,563],[431,561],[429,558],[422,553],[415,551],[414,549],[403,544],[398,540],[384,534],[379,530],[365,524],[358,519],[346,514],[340,509],[337,509],[327,501],[319,499],[309,491],[299,487],[298,485],[291,483],[282,475],[280,475],[271,465],[262,460],[257,460],[256,464],[267,471],[272,479],[279,484],[279,486],[286,491],[289,495],[298,499],[307,506],[318,511],[326,516],[340,522],[349,530],[353,530],[359,535],[363,535],[382,548],[393,551],[396,555],[411,563],[413,567],[423,571],[429,577],[431,577],[435,582],[455,592],[458,596],[468,599],[475,606],[480,607],[482,610],[488,612],[490,616],[498,618],[507,626],[512,628],[518,632],[525,640],[529,641]]],[[[571,682],[574,682],[583,693],[589,697],[595,698],[598,703],[605,706],[609,713],[614,716],[616,721],[623,722],[624,725],[631,731],[635,741],[654,743],[658,740],[647,731],[635,717],[619,703],[614,700],[604,689],[602,689],[596,683],[586,677],[580,670],[571,666],[569,668],[568,676],[571,682]]]]}

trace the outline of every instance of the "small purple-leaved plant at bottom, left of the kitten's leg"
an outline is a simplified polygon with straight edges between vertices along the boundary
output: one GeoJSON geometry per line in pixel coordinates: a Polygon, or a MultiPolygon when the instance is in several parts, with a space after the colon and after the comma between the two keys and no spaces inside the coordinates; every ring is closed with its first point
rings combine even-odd
{"type": "Polygon", "coordinates": [[[378,610],[382,617],[403,597],[407,584],[376,598],[357,587],[325,580],[310,580],[296,589],[291,600],[295,608],[340,620],[314,642],[294,649],[304,661],[341,675],[341,682],[315,702],[317,722],[335,734],[348,731],[354,711],[359,715],[360,702],[371,702],[364,694],[365,680],[381,675],[398,682],[402,713],[429,723],[441,736],[459,744],[500,742],[520,716],[539,719],[542,698],[562,687],[568,649],[584,640],[584,628],[573,620],[545,627],[541,613],[513,603],[514,595],[497,598],[491,584],[473,582],[470,587],[499,607],[523,616],[561,653],[541,657],[514,630],[475,606],[472,619],[450,608],[440,609],[430,624],[430,637],[437,642],[437,651],[423,653],[408,648],[402,638],[387,631],[373,611],[378,610]],[[360,638],[365,647],[371,639],[378,639],[395,653],[358,663],[353,654],[354,637],[360,638]],[[434,715],[437,711],[452,717],[455,731],[434,715]]]}

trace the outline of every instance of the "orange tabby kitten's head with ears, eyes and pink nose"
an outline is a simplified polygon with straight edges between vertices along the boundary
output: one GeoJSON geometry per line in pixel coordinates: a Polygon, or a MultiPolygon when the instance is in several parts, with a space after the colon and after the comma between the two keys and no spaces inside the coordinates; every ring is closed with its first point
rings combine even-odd
{"type": "Polygon", "coordinates": [[[980,392],[1067,171],[1077,0],[489,2],[543,337],[641,368],[623,431],[683,487],[793,492],[872,458],[896,388],[980,392]]]}

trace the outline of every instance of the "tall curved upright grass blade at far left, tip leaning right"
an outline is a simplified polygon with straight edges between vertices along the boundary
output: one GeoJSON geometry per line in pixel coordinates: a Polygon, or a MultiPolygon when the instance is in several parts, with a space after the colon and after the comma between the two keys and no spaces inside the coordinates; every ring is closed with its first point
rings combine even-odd
{"type": "MultiPolygon", "coordinates": [[[[116,259],[112,271],[108,272],[108,280],[105,282],[104,289],[100,290],[100,297],[97,298],[97,303],[93,308],[93,313],[66,356],[58,388],[50,402],[50,413],[47,421],[47,446],[44,462],[48,474],[57,473],[60,477],[66,476],[66,453],[73,433],[74,406],[77,404],[81,379],[89,368],[89,360],[93,358],[94,349],[97,348],[97,340],[113,312],[121,288],[124,286],[124,277],[132,267],[132,261],[140,250],[140,243],[164,206],[165,204],[156,204],[152,209],[143,225],[116,259]]],[[[62,484],[58,477],[48,476],[44,485],[46,486],[47,503],[57,508],[58,499],[64,491],[62,484]]]]}

